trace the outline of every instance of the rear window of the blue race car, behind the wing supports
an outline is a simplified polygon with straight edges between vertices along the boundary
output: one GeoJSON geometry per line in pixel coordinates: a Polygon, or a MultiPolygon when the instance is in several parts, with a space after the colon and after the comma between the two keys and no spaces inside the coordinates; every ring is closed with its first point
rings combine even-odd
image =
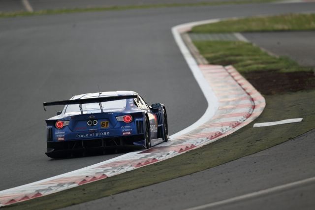
{"type": "MultiPolygon", "coordinates": [[[[126,109],[126,99],[102,102],[103,112],[119,112],[126,109]]],[[[82,104],[83,114],[100,113],[98,103],[82,104]]],[[[79,104],[70,104],[65,109],[66,115],[80,115],[79,104]]]]}

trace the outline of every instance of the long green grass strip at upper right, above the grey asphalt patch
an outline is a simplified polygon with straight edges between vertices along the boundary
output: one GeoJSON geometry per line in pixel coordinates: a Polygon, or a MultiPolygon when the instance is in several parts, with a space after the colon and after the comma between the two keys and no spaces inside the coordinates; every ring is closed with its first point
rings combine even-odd
{"type": "Polygon", "coordinates": [[[194,27],[194,33],[315,30],[315,14],[286,14],[224,20],[194,27]]]}

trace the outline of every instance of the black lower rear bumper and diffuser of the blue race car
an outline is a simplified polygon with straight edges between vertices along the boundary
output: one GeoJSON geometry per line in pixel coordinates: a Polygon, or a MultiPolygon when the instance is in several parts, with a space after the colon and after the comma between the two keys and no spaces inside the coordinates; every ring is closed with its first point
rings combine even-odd
{"type": "Polygon", "coordinates": [[[141,134],[126,137],[47,142],[47,152],[45,154],[54,158],[84,151],[94,152],[110,149],[143,150],[145,149],[144,138],[144,135],[141,134]]]}

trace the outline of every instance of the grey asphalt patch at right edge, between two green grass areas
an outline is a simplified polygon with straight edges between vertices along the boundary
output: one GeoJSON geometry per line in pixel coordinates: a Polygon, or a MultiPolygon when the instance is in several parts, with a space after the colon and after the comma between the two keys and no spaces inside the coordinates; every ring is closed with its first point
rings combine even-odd
{"type": "Polygon", "coordinates": [[[287,56],[303,66],[315,66],[315,31],[242,33],[268,52],[287,56]]]}

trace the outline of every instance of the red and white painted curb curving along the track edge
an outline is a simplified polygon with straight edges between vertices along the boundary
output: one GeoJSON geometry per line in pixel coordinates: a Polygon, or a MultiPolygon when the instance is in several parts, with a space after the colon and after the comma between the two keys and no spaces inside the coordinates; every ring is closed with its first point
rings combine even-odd
{"type": "Polygon", "coordinates": [[[217,141],[257,118],[265,107],[265,99],[232,66],[198,65],[180,38],[180,32],[189,27],[191,24],[177,26],[172,32],[208,101],[200,120],[149,150],[129,152],[76,171],[0,191],[0,206],[60,192],[174,157],[217,141]]]}

